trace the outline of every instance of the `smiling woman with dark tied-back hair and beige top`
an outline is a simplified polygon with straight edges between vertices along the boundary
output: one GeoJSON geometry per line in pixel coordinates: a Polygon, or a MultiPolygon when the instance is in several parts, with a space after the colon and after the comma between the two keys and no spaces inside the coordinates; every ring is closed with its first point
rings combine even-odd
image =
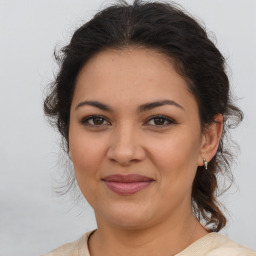
{"type": "Polygon", "coordinates": [[[62,50],[45,112],[97,230],[48,255],[256,255],[218,233],[225,136],[242,112],[225,61],[179,8],[113,5],[62,50]]]}

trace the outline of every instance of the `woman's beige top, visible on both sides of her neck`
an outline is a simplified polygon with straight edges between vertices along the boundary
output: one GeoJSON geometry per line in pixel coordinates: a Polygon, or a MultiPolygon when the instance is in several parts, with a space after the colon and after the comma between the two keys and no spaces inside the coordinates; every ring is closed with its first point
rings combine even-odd
{"type": "MultiPolygon", "coordinates": [[[[90,256],[87,242],[92,232],[88,232],[79,240],[62,245],[42,256],[90,256]]],[[[175,256],[256,256],[256,252],[237,244],[220,233],[212,232],[195,241],[175,256]]]]}

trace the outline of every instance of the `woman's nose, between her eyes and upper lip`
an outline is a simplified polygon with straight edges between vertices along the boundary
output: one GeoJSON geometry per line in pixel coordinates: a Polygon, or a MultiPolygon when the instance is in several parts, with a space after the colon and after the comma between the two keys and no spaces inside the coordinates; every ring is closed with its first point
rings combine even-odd
{"type": "Polygon", "coordinates": [[[145,155],[145,150],[136,129],[123,125],[113,132],[107,151],[109,160],[125,166],[142,161],[145,155]]]}

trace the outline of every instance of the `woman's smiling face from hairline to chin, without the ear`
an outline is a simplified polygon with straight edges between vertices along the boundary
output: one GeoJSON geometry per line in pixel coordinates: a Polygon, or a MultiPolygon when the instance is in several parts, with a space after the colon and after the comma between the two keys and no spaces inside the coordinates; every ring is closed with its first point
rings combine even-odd
{"type": "Polygon", "coordinates": [[[81,70],[70,156],[98,224],[133,229],[191,214],[202,138],[195,98],[159,53],[107,50],[81,70]]]}

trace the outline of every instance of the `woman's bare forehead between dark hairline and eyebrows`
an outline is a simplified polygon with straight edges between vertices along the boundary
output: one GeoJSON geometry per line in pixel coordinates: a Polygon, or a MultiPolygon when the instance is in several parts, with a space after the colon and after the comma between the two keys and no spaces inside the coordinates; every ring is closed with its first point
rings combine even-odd
{"type": "Polygon", "coordinates": [[[151,49],[129,48],[106,50],[91,58],[79,73],[73,101],[99,100],[128,107],[163,98],[195,105],[170,59],[151,49]]]}

